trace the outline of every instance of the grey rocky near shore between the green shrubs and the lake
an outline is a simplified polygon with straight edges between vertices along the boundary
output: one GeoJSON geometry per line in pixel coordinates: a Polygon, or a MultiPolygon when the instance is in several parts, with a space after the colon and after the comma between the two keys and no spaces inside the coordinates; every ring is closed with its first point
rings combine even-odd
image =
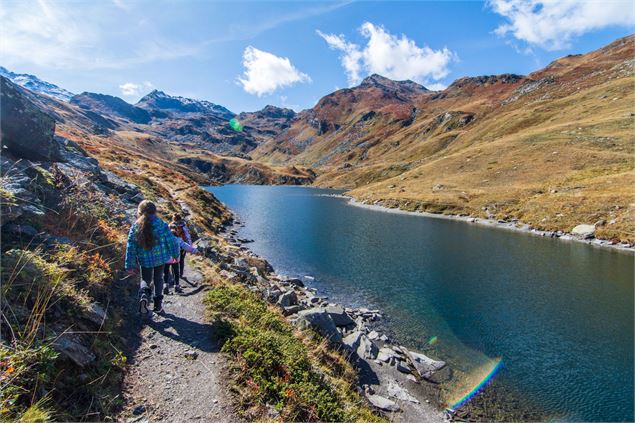
{"type": "Polygon", "coordinates": [[[451,377],[444,361],[399,345],[382,333],[382,313],[328,301],[301,279],[277,274],[239,239],[234,220],[220,230],[227,246],[212,238],[196,241],[220,267],[220,275],[246,285],[278,306],[298,328],[314,330],[357,367],[357,389],[393,421],[439,422],[449,416],[442,408],[439,383],[451,377]]]}

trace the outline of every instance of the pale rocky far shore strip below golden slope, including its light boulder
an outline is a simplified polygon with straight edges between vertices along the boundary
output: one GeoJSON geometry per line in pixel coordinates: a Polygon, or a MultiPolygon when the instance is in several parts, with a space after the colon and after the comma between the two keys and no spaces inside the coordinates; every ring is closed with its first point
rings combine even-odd
{"type": "Polygon", "coordinates": [[[496,220],[496,219],[487,219],[473,216],[460,216],[460,215],[452,215],[452,214],[437,214],[437,213],[428,213],[422,211],[407,211],[402,210],[398,207],[391,207],[386,202],[382,200],[375,201],[373,203],[367,203],[363,201],[358,201],[357,199],[341,194],[330,194],[332,197],[344,198],[348,200],[348,203],[351,206],[361,207],[368,210],[375,210],[385,213],[397,213],[397,214],[408,214],[415,216],[425,216],[432,217],[435,219],[449,219],[449,220],[457,220],[466,223],[473,223],[483,226],[489,226],[493,228],[506,229],[510,231],[527,233],[535,236],[541,236],[546,238],[557,238],[562,241],[572,241],[572,242],[582,242],[588,245],[592,245],[595,247],[601,248],[611,248],[613,250],[625,251],[630,253],[635,253],[635,245],[629,243],[615,243],[604,239],[595,238],[594,232],[596,226],[604,224],[605,222],[596,222],[595,224],[580,224],[573,228],[570,233],[564,231],[543,231],[540,229],[536,229],[527,223],[523,223],[518,221],[517,219],[512,220],[496,220]]]}

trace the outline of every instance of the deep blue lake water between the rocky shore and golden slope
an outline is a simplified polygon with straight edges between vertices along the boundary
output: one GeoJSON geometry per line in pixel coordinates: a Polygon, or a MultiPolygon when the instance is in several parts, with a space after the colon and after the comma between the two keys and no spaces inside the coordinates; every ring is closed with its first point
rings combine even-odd
{"type": "Polygon", "coordinates": [[[467,405],[486,417],[633,421],[632,254],[367,210],[324,195],[334,190],[210,191],[277,272],[310,275],[335,302],[381,309],[401,343],[448,361],[461,381],[444,385],[448,398],[502,358],[467,405]]]}

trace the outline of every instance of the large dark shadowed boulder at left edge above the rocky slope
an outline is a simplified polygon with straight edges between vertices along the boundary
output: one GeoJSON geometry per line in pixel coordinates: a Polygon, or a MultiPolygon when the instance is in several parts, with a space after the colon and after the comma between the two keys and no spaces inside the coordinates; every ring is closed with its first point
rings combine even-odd
{"type": "Polygon", "coordinates": [[[19,158],[60,161],[54,141],[55,120],[28,99],[25,90],[0,77],[0,138],[2,146],[19,158]]]}

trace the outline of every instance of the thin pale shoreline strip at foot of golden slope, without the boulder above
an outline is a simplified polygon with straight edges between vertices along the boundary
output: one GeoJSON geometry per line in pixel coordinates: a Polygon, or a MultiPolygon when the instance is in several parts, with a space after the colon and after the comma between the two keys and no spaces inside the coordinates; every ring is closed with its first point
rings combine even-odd
{"type": "Polygon", "coordinates": [[[489,228],[496,229],[504,229],[512,232],[519,232],[522,234],[533,235],[542,238],[552,238],[558,239],[560,241],[570,241],[570,242],[578,242],[581,244],[586,244],[596,248],[605,248],[611,251],[618,251],[625,254],[635,254],[635,246],[631,246],[630,244],[611,244],[609,241],[592,238],[592,239],[583,239],[576,237],[570,233],[564,231],[542,231],[539,229],[532,228],[528,223],[522,223],[519,221],[509,222],[509,221],[499,221],[496,219],[488,219],[481,217],[473,217],[473,216],[459,216],[453,214],[438,214],[438,213],[430,213],[425,211],[408,211],[402,210],[400,208],[386,207],[381,204],[382,200],[378,200],[376,204],[368,204],[363,201],[359,201],[354,197],[345,194],[324,194],[327,197],[334,198],[342,198],[347,200],[347,204],[353,207],[359,207],[367,210],[373,210],[382,213],[394,213],[394,214],[403,214],[403,215],[412,215],[419,217],[429,217],[433,219],[445,219],[445,220],[453,220],[457,222],[464,222],[470,224],[477,224],[489,228]]]}

